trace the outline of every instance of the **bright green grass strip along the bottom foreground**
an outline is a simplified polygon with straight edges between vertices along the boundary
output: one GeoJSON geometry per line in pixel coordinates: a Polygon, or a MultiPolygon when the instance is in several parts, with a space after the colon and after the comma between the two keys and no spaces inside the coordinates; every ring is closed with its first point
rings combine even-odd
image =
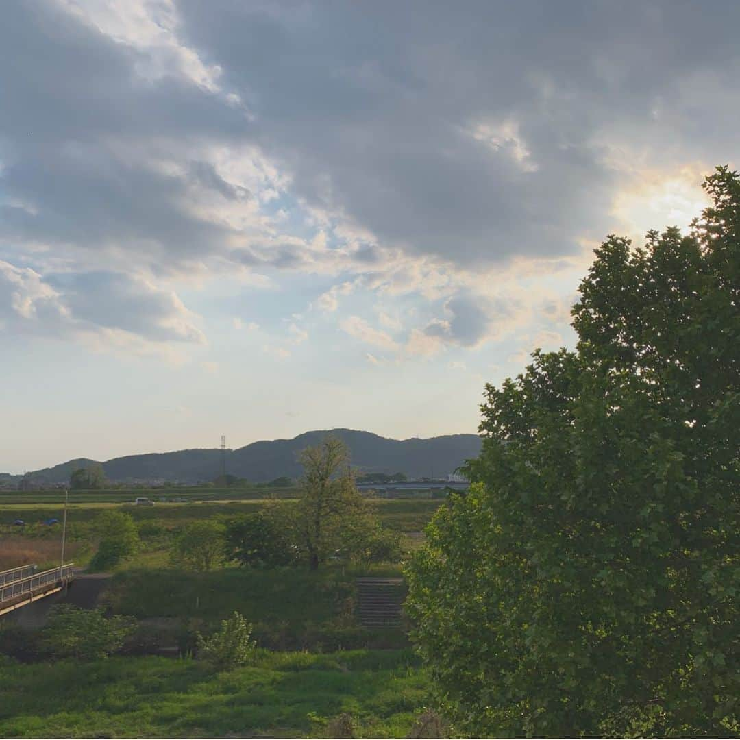
{"type": "Polygon", "coordinates": [[[212,673],[192,660],[0,664],[3,737],[321,737],[349,712],[360,736],[405,737],[427,702],[409,650],[267,653],[212,673]]]}

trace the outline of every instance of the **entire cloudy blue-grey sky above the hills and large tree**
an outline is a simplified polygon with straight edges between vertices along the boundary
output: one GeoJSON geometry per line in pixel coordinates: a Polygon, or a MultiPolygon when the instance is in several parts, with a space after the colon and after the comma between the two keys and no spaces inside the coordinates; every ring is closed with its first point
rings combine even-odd
{"type": "Polygon", "coordinates": [[[0,471],[474,432],[737,165],[740,4],[0,5],[0,471]]]}

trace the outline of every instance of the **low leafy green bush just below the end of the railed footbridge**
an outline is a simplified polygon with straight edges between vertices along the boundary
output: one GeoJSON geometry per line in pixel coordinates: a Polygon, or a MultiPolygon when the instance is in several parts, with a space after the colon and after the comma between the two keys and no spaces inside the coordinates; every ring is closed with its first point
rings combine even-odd
{"type": "Polygon", "coordinates": [[[41,650],[54,659],[95,660],[115,653],[136,628],[130,616],[106,619],[99,609],[71,604],[51,608],[41,631],[41,650]]]}

